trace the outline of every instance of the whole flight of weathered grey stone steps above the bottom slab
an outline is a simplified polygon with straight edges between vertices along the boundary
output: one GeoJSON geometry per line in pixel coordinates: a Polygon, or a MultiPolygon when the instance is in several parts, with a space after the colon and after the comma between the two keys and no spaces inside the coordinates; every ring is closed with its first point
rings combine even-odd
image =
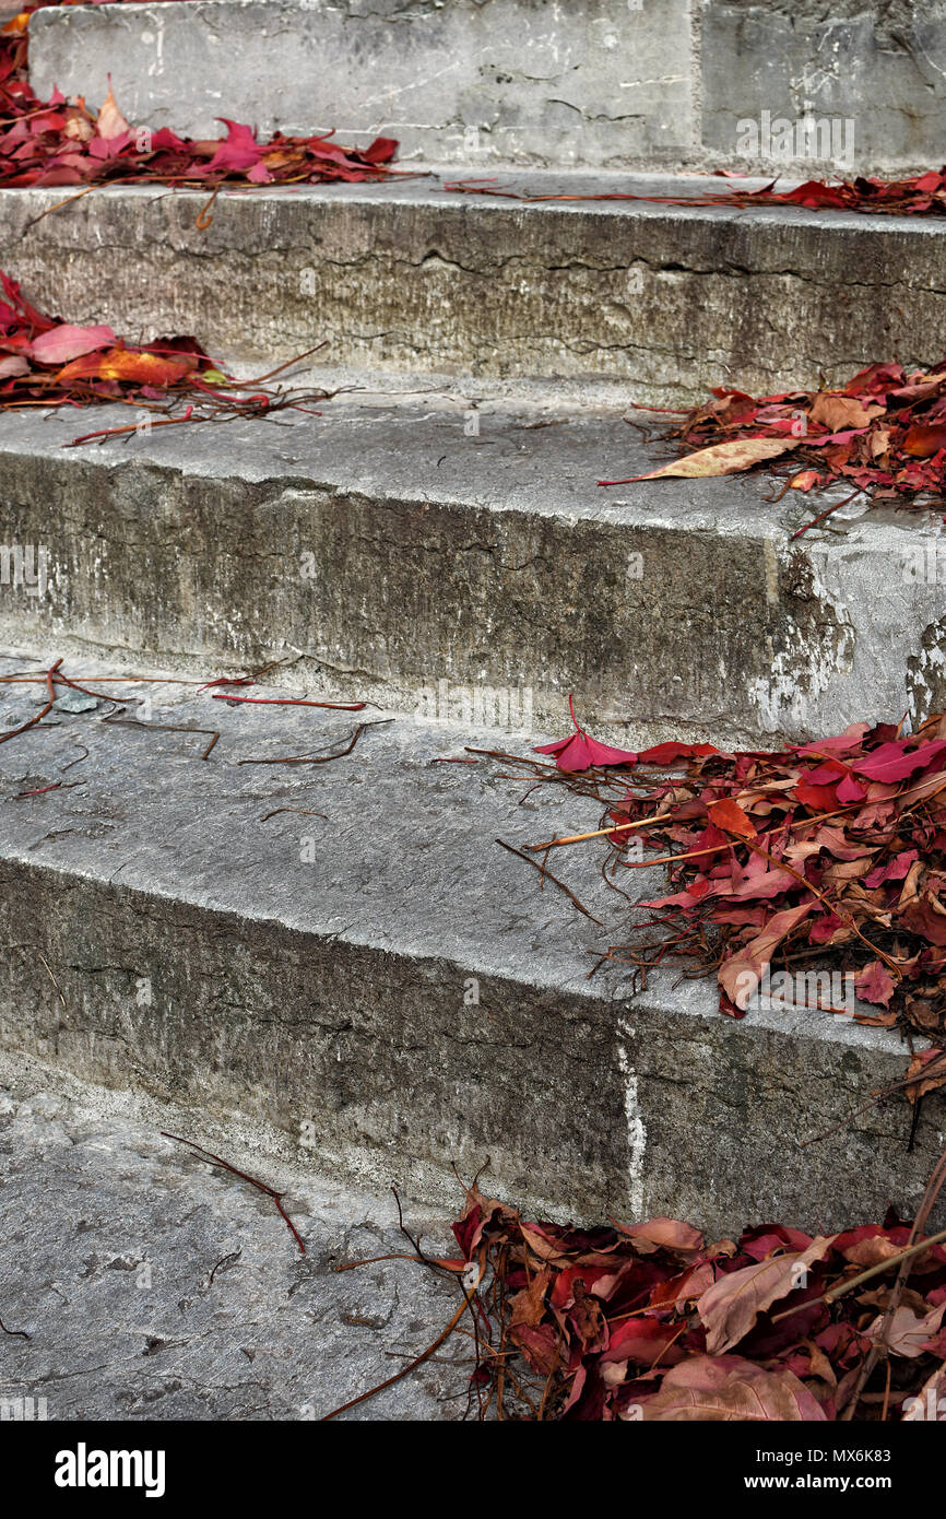
{"type": "MultiPolygon", "coordinates": [[[[598,930],[495,838],[594,828],[597,807],[518,807],[495,764],[430,763],[559,737],[572,690],[630,744],[771,746],[943,703],[943,602],[917,574],[935,513],[838,513],[793,542],[808,509],[755,477],[595,482],[664,457],[627,425],[632,398],[938,357],[946,228],[445,190],[506,166],[533,193],[695,193],[667,175],[721,152],[712,100],[712,129],[692,120],[689,8],[583,9],[586,24],[525,0],[194,0],[35,18],[38,90],[94,99],[109,67],[155,126],[210,132],[226,111],[392,129],[430,173],[222,193],[205,231],[191,191],[102,190],[39,222],[61,190],[0,194],[0,264],[47,308],[129,337],[193,331],[243,374],[326,339],[307,380],[339,390],[322,418],[74,451],[111,413],[0,418],[6,536],[49,559],[46,594],[0,588],[5,668],[67,655],[70,673],[210,679],[287,659],[267,677],[284,694],[392,718],[323,769],[241,767],[343,747],[361,717],[141,685],[121,699],[149,699],[149,720],[220,729],[207,763],[203,740],[103,725],[108,708],[2,746],[0,1042],[241,1126],[287,1162],[305,1135],[331,1174],[439,1206],[453,1162],[489,1156],[493,1188],[559,1217],[861,1221],[917,1202],[941,1100],[913,1151],[896,1103],[799,1145],[902,1074],[897,1041],[823,1013],[736,1024],[673,972],[636,998],[615,966],[588,980],[627,911],[600,860],[577,851],[565,872],[598,930]],[[483,49],[492,84],[471,62],[483,49]],[[80,787],[14,799],[77,746],[80,787]],[[325,816],[263,822],[281,808],[325,816]]],[[[706,26],[724,35],[743,9],[706,6],[706,26]]]]}

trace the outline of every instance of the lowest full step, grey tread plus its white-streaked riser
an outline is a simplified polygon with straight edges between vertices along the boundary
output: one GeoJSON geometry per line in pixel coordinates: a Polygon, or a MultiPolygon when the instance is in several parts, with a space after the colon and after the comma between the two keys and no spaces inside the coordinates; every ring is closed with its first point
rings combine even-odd
{"type": "MultiPolygon", "coordinates": [[[[203,735],[108,726],[106,708],[0,746],[0,1045],[445,1208],[453,1164],[487,1156],[506,1195],[585,1220],[717,1233],[917,1202],[938,1095],[913,1154],[896,1101],[799,1148],[899,1078],[888,1034],[806,1012],[733,1022],[673,974],[638,998],[626,968],[588,978],[629,911],[594,848],[557,870],[603,927],[493,840],[594,826],[595,804],[542,787],[518,805],[493,763],[430,764],[471,734],[407,720],[331,764],[240,766],[336,753],[360,717],[121,688],[126,706],[146,694],[152,723],[222,731],[207,763],[203,735]],[[18,797],[62,779],[82,784],[18,797]],[[284,807],[323,817],[269,816],[284,807]]],[[[662,872],[642,876],[651,895],[662,872]]]]}

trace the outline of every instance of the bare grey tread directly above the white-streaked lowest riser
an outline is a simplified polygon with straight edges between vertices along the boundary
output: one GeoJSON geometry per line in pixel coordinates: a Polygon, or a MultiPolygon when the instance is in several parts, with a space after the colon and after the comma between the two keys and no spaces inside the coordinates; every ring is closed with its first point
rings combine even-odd
{"type": "MultiPolygon", "coordinates": [[[[15,656],[0,664],[2,673],[23,668],[38,665],[23,665],[15,656]]],[[[20,720],[39,700],[14,697],[23,690],[2,690],[5,708],[20,720]]],[[[96,714],[56,712],[55,728],[38,726],[0,747],[0,857],[8,863],[97,878],[118,890],[232,913],[246,924],[278,922],[416,960],[448,958],[471,972],[592,1001],[630,1000],[627,969],[609,966],[588,977],[595,957],[621,942],[627,924],[623,898],[601,880],[600,851],[594,845],[560,851],[550,869],[603,927],[579,914],[554,887],[541,892],[538,873],[495,843],[503,837],[522,848],[597,828],[600,805],[559,787],[539,788],[516,805],[528,782],[500,779],[501,763],[430,763],[472,758],[468,746],[528,755],[528,743],[512,735],[500,743],[495,732],[468,734],[407,717],[387,720],[371,708],[263,711],[228,705],[193,687],[121,685],[120,691],[123,700],[150,691],[153,723],[219,729],[213,755],[200,761],[207,740],[199,734],[146,732],[109,726],[96,714]],[[331,764],[238,763],[328,746],[334,752],[361,722],[384,726],[367,729],[351,755],[331,764]],[[77,741],[90,749],[71,772],[80,785],[14,801],[24,782],[32,788],[61,779],[77,741]],[[328,820],[285,813],[261,822],[279,807],[314,808],[328,820]],[[313,840],[311,863],[299,861],[301,835],[313,840]]],[[[351,696],[358,699],[355,681],[351,696]]],[[[636,890],[633,878],[626,890],[647,898],[664,890],[664,880],[661,867],[642,870],[636,890]]],[[[639,998],[641,1009],[659,1003],[682,1016],[718,1016],[712,980],[685,983],[673,993],[668,981],[654,977],[639,998]]],[[[758,1012],[741,1027],[755,1024],[862,1048],[896,1048],[884,1030],[820,1013],[758,1012]]]]}

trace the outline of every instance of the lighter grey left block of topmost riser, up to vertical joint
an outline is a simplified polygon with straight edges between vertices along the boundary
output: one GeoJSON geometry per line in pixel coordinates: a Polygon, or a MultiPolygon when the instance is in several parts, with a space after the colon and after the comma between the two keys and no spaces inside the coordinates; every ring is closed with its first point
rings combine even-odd
{"type": "Polygon", "coordinates": [[[30,20],[30,81],[217,137],[381,134],[440,163],[676,163],[694,134],[689,0],[188,0],[30,20]]]}

